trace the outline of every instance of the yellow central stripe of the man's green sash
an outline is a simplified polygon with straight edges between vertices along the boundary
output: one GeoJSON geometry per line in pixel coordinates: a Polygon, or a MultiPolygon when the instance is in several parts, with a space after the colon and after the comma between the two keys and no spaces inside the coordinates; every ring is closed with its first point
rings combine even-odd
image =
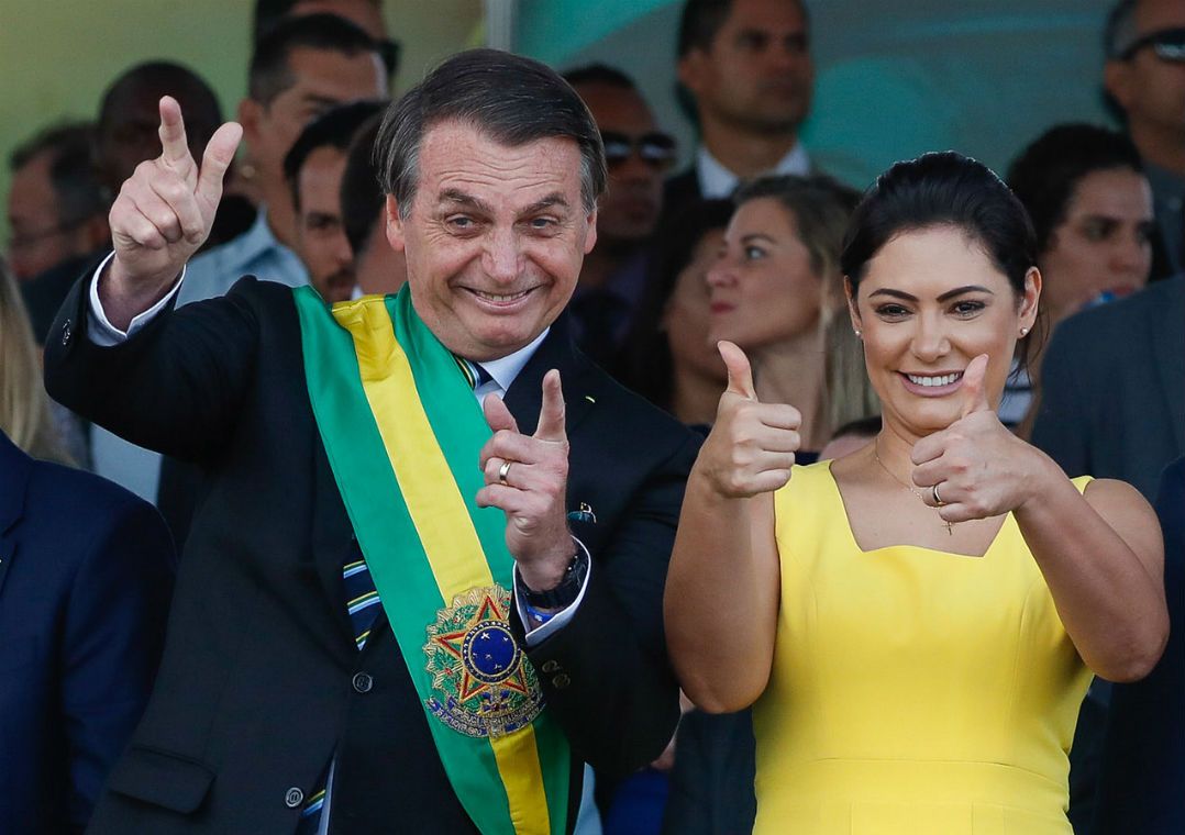
{"type": "MultiPolygon", "coordinates": [[[[481,540],[419,402],[411,365],[395,338],[383,296],[334,304],[333,316],[354,339],[363,391],[441,599],[450,605],[469,589],[494,585],[481,540]]],[[[514,733],[491,737],[489,746],[506,786],[514,831],[550,833],[534,727],[525,725],[514,733]]]]}

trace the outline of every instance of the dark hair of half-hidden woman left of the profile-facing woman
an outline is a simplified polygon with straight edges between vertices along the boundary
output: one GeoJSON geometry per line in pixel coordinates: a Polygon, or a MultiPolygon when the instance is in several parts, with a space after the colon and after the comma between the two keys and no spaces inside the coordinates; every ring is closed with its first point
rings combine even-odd
{"type": "Polygon", "coordinates": [[[662,330],[667,301],[679,274],[691,263],[696,246],[709,232],[729,225],[732,208],[731,200],[693,203],[664,224],[655,238],[646,287],[634,323],[621,345],[614,372],[622,384],[660,409],[670,410],[674,394],[671,345],[662,330]]]}

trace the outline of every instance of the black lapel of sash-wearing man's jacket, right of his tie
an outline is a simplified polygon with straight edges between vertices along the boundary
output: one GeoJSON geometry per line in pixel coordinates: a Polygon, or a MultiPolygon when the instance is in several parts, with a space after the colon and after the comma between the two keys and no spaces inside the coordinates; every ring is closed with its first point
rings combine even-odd
{"type": "Polygon", "coordinates": [[[552,368],[559,371],[559,384],[564,390],[565,426],[570,437],[596,404],[596,397],[587,391],[589,360],[572,342],[568,314],[561,315],[551,326],[546,339],[540,342],[506,392],[506,407],[514,416],[524,435],[534,432],[539,423],[543,378],[552,368]]]}

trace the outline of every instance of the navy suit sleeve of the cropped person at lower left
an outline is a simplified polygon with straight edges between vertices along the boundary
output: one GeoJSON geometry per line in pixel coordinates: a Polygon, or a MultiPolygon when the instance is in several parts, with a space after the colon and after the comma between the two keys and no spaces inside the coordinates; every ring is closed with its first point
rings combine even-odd
{"type": "Polygon", "coordinates": [[[71,585],[60,692],[69,820],[79,831],[148,701],[173,563],[160,515],[147,503],[128,501],[96,532],[71,585]]]}

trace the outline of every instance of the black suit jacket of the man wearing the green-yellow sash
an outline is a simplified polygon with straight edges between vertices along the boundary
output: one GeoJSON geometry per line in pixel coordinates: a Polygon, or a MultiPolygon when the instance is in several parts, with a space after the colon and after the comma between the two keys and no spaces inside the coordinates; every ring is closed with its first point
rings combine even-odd
{"type": "MultiPolygon", "coordinates": [[[[50,340],[53,396],[205,474],[159,683],[95,831],[292,831],[300,810],[286,798],[318,786],[334,751],[334,831],[472,831],[390,628],[354,648],[340,579],[352,531],[292,290],[245,278],[111,348],[85,328],[84,281],[50,340]],[[351,687],[358,672],[373,679],[366,693],[351,687]]],[[[583,603],[527,655],[575,758],[623,771],[656,756],[678,718],[661,591],[697,441],[576,353],[562,323],[507,392],[524,431],[551,367],[568,404],[569,500],[597,522],[575,531],[592,554],[583,603]]]]}

